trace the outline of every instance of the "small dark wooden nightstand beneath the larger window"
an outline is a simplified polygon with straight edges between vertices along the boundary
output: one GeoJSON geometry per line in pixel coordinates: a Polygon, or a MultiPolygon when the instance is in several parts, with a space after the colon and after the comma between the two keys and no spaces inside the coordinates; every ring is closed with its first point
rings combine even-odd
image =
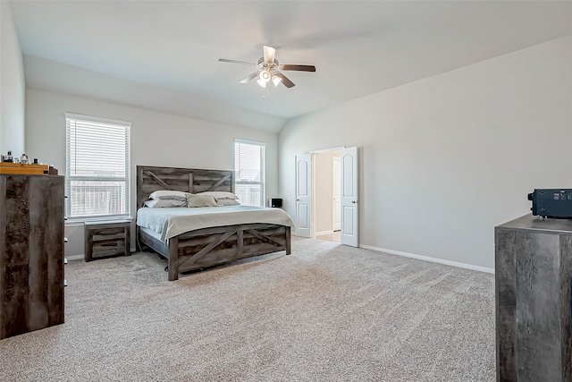
{"type": "Polygon", "coordinates": [[[130,220],[86,222],[84,225],[86,261],[130,254],[130,220]]]}

